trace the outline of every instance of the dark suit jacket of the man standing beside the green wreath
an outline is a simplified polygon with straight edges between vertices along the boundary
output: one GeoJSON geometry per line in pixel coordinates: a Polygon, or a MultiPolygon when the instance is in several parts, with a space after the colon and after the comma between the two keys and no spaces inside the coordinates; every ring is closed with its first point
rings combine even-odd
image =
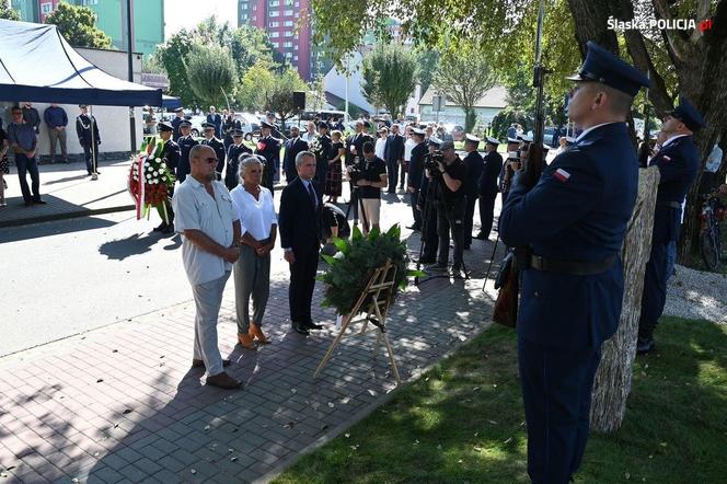
{"type": "Polygon", "coordinates": [[[284,249],[291,247],[297,258],[301,254],[318,249],[319,244],[323,188],[315,180],[312,183],[318,197],[318,208],[313,206],[311,197],[299,177],[290,182],[280,196],[280,212],[278,214],[280,245],[284,249]]]}

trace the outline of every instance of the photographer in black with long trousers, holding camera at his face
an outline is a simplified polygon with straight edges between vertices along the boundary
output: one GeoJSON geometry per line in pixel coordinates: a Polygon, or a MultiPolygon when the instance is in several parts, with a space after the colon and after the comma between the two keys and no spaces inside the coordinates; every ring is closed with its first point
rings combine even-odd
{"type": "Polygon", "coordinates": [[[446,269],[449,261],[450,231],[454,243],[452,275],[461,277],[462,254],[464,252],[464,210],[466,165],[454,151],[452,141],[443,141],[439,153],[435,152],[426,165],[427,176],[436,183],[437,234],[439,235],[439,255],[436,268],[446,269]]]}

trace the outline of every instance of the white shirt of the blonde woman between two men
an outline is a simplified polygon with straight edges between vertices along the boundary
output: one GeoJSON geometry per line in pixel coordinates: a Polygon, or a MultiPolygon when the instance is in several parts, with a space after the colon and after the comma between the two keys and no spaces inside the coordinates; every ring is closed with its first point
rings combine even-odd
{"type": "Polygon", "coordinates": [[[270,237],[270,229],[278,224],[270,191],[264,186],[259,188],[257,200],[242,185],[235,186],[230,192],[232,206],[238,219],[240,219],[242,235],[250,233],[257,241],[270,237]]]}

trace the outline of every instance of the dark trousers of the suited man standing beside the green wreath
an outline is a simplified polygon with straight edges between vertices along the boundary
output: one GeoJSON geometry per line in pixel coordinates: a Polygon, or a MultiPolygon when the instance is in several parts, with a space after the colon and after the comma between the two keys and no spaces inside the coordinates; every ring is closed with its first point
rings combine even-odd
{"type": "Polygon", "coordinates": [[[315,268],[318,267],[319,245],[307,249],[293,249],[296,262],[290,264],[290,287],[288,303],[290,320],[296,323],[311,323],[311,302],[315,288],[315,268]]]}

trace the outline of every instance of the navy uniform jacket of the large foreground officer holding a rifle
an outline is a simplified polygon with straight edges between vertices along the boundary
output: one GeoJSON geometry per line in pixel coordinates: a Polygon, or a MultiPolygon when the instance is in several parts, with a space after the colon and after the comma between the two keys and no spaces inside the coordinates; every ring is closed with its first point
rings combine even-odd
{"type": "Polygon", "coordinates": [[[624,123],[589,131],[545,168],[530,191],[512,185],[500,214],[509,246],[562,261],[602,262],[591,276],[522,272],[518,334],[547,348],[599,347],[621,315],[621,246],[638,189],[638,161],[624,123]]]}

